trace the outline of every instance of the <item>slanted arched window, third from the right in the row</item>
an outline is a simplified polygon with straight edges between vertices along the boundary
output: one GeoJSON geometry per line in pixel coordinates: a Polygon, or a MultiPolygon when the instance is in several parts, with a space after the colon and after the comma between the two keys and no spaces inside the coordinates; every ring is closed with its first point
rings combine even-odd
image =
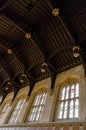
{"type": "Polygon", "coordinates": [[[25,100],[26,100],[25,96],[18,99],[17,104],[14,107],[14,110],[10,116],[8,123],[16,123],[18,121],[18,117],[19,117],[21,110],[24,106],[25,100]]]}

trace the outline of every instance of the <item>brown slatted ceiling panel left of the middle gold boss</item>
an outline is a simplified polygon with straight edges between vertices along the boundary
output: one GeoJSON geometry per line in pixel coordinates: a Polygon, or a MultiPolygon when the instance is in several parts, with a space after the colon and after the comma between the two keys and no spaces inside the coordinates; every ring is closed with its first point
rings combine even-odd
{"type": "Polygon", "coordinates": [[[5,16],[0,16],[0,34],[13,40],[20,39],[25,32],[5,16]]]}

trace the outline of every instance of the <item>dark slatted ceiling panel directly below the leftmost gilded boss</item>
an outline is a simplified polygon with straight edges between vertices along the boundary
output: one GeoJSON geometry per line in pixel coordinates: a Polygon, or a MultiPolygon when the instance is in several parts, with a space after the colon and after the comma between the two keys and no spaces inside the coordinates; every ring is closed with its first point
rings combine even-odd
{"type": "Polygon", "coordinates": [[[18,74],[24,73],[22,64],[13,54],[4,56],[1,59],[1,65],[12,79],[14,79],[18,74]]]}

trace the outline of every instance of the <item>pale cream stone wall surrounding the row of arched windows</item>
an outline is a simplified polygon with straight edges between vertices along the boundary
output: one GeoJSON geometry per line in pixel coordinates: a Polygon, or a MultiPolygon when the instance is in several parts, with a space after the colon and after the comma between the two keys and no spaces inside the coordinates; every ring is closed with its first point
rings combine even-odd
{"type": "Polygon", "coordinates": [[[72,78],[77,79],[80,84],[80,97],[79,97],[80,105],[79,105],[79,119],[78,120],[85,121],[86,120],[86,80],[84,78],[83,67],[82,65],[80,65],[78,67],[74,67],[70,70],[57,74],[55,86],[53,90],[51,90],[50,88],[51,79],[48,78],[43,81],[35,83],[34,89],[30,97],[27,96],[28,91],[29,91],[29,86],[22,88],[18,92],[14,102],[11,101],[13,97],[13,93],[9,93],[6,99],[4,100],[3,104],[0,106],[0,111],[1,111],[5,102],[7,102],[8,100],[10,101],[10,108],[8,109],[8,111],[6,111],[5,116],[2,119],[2,123],[7,123],[15,104],[17,103],[18,98],[22,96],[23,94],[25,94],[26,102],[24,104],[24,108],[22,109],[22,112],[21,112],[22,114],[20,114],[20,116],[18,117],[18,123],[24,123],[30,111],[30,106],[32,105],[32,101],[34,99],[35,93],[41,88],[46,89],[48,96],[47,96],[47,100],[44,106],[42,117],[40,119],[40,123],[54,121],[55,107],[57,105],[59,88],[63,82],[72,78]]]}

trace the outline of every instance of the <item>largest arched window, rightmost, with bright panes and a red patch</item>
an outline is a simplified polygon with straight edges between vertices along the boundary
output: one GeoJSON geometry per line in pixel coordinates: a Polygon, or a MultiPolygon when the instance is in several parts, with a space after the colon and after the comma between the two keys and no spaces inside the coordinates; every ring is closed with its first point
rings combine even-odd
{"type": "Polygon", "coordinates": [[[79,83],[69,82],[61,88],[56,119],[79,117],[79,83]]]}

